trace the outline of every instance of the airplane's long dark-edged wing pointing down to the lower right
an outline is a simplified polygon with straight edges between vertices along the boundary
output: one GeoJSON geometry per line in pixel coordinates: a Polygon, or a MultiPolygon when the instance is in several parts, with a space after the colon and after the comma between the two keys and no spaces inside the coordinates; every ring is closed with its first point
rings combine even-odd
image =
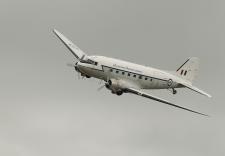
{"type": "Polygon", "coordinates": [[[164,99],[161,99],[161,98],[158,98],[158,97],[156,97],[156,96],[153,96],[153,95],[150,95],[150,94],[141,92],[141,91],[139,91],[139,90],[137,90],[137,89],[134,89],[134,88],[127,88],[125,91],[126,91],[126,92],[129,92],[129,93],[132,93],[132,94],[139,95],[139,96],[143,96],[143,97],[145,97],[145,98],[149,98],[149,99],[152,99],[152,100],[155,100],[155,101],[158,101],[158,102],[162,102],[162,103],[164,103],[164,104],[167,104],[167,105],[170,105],[170,106],[173,106],[173,107],[177,107],[177,108],[180,108],[180,109],[189,111],[189,112],[193,112],[193,113],[196,113],[196,114],[208,116],[207,114],[203,114],[203,113],[196,112],[196,111],[193,111],[193,110],[188,109],[188,108],[184,108],[184,107],[175,105],[175,104],[173,104],[173,103],[171,103],[171,102],[168,102],[168,101],[166,101],[166,100],[164,100],[164,99]]]}

